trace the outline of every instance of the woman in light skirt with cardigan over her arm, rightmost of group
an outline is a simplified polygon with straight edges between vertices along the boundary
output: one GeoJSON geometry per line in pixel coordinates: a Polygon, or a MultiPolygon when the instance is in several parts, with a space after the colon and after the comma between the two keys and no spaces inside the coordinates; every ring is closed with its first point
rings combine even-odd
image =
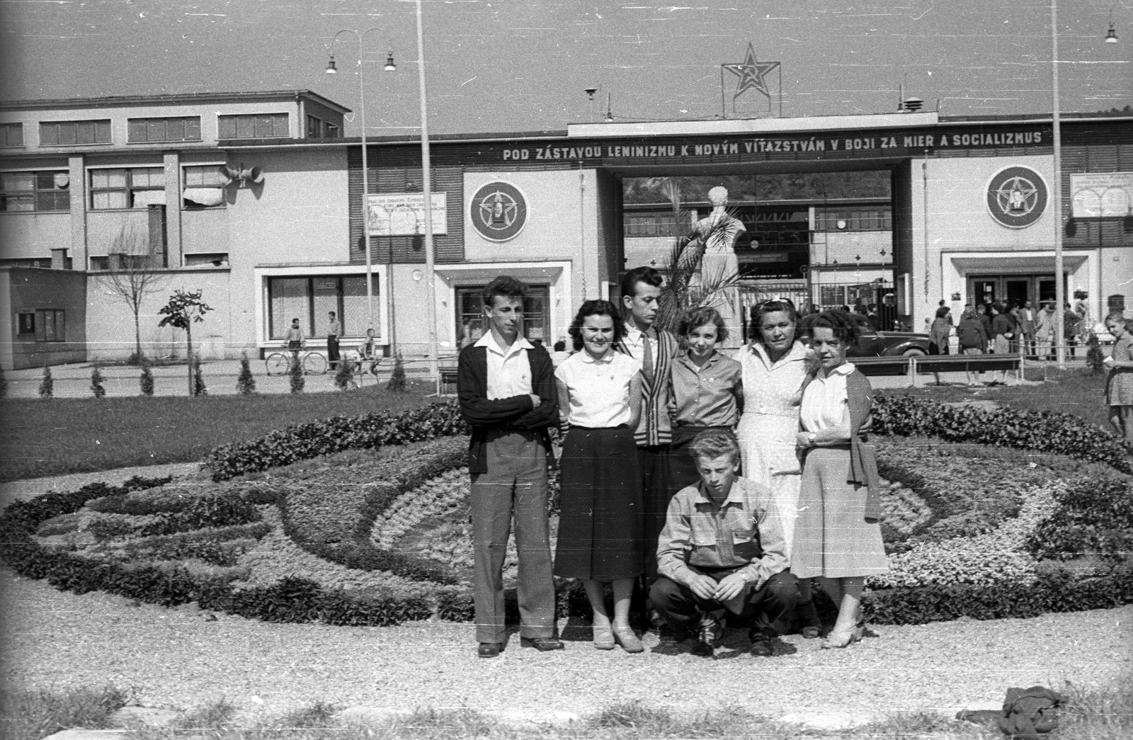
{"type": "Polygon", "coordinates": [[[798,444],[806,458],[791,572],[800,579],[820,579],[838,607],[823,647],[846,647],[864,633],[864,577],[889,569],[879,524],[877,459],[864,442],[870,385],[846,362],[846,349],[858,333],[847,314],[824,312],[810,331],[818,365],[802,393],[798,444]]]}

